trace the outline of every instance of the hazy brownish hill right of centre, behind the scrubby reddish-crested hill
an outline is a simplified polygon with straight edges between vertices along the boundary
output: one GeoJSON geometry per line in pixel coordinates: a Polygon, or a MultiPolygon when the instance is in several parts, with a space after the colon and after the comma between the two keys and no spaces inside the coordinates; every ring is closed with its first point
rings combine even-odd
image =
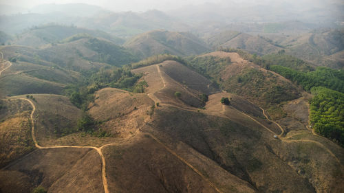
{"type": "Polygon", "coordinates": [[[253,54],[269,54],[282,49],[272,41],[261,36],[251,36],[241,32],[226,31],[206,38],[212,47],[244,49],[253,54]]]}

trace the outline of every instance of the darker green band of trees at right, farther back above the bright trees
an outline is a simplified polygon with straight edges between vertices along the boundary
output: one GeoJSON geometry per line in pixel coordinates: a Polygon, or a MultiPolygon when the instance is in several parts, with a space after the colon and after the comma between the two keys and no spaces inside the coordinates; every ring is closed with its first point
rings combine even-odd
{"type": "Polygon", "coordinates": [[[316,71],[303,73],[276,65],[270,67],[270,69],[292,80],[292,82],[297,82],[305,91],[310,91],[312,87],[326,87],[344,93],[344,71],[319,67],[316,71]]]}

